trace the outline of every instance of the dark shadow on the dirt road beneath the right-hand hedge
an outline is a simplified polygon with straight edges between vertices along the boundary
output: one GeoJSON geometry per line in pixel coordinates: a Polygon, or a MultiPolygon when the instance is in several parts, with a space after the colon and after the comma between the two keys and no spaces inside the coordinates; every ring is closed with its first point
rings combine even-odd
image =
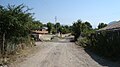
{"type": "Polygon", "coordinates": [[[96,55],[95,53],[93,53],[92,51],[90,51],[87,48],[85,49],[85,51],[88,53],[89,56],[91,56],[91,58],[94,61],[96,61],[97,63],[99,63],[102,66],[105,66],[105,67],[120,67],[119,63],[107,60],[105,58],[102,58],[102,57],[96,55]]]}

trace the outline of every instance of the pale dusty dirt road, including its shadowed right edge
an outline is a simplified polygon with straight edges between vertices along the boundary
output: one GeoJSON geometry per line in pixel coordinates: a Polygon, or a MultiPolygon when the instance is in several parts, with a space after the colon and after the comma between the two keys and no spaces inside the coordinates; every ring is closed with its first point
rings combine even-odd
{"type": "Polygon", "coordinates": [[[83,48],[65,40],[36,44],[43,48],[23,62],[13,63],[10,67],[119,67],[115,63],[92,56],[83,48]]]}

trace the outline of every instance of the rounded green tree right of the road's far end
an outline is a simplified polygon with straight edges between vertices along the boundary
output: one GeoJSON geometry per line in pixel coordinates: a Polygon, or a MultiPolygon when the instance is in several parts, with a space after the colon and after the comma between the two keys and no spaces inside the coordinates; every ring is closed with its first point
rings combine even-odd
{"type": "Polygon", "coordinates": [[[92,30],[92,26],[89,22],[82,22],[78,20],[77,22],[73,23],[72,26],[72,34],[75,36],[75,40],[79,36],[85,36],[88,34],[89,31],[92,30]]]}

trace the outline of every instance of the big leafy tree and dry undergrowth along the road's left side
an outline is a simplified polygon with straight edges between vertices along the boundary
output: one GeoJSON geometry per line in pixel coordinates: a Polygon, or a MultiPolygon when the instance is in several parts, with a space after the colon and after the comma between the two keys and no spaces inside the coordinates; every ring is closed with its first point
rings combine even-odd
{"type": "Polygon", "coordinates": [[[35,23],[33,13],[29,10],[23,4],[7,7],[0,5],[0,57],[3,59],[34,46],[30,31],[35,23]]]}

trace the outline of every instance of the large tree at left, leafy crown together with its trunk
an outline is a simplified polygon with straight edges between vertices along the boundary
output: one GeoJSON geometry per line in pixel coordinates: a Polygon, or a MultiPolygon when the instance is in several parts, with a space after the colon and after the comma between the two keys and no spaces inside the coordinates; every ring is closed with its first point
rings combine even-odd
{"type": "Polygon", "coordinates": [[[29,36],[33,25],[32,13],[29,13],[29,10],[25,9],[23,4],[0,7],[0,32],[3,38],[1,52],[6,51],[9,41],[17,45],[21,38],[29,36]]]}

